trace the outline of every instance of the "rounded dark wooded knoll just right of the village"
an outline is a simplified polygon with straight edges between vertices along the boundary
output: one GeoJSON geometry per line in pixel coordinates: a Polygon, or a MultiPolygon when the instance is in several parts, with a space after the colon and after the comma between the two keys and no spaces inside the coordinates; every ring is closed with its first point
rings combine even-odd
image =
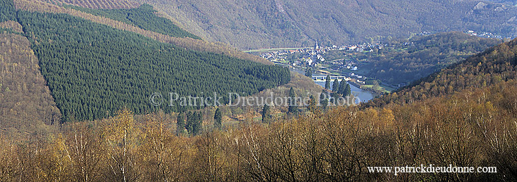
{"type": "Polygon", "coordinates": [[[502,41],[496,38],[480,38],[461,32],[389,41],[385,43],[385,49],[374,48],[375,52],[365,54],[372,67],[367,76],[387,84],[409,83],[500,43],[502,41]]]}

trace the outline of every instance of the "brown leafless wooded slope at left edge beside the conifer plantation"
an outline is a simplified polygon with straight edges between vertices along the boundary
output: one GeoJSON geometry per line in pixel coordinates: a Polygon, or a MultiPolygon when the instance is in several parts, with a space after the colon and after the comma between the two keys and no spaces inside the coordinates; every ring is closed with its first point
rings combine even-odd
{"type": "Polygon", "coordinates": [[[26,37],[0,32],[0,134],[47,133],[61,113],[26,37]]]}

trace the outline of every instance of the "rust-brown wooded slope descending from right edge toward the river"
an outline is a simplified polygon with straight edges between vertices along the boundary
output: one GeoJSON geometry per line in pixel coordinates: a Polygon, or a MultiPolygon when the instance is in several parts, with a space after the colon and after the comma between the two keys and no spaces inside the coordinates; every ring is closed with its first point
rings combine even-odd
{"type": "Polygon", "coordinates": [[[382,95],[364,106],[412,103],[516,79],[516,54],[517,39],[514,39],[422,78],[400,91],[382,95]]]}

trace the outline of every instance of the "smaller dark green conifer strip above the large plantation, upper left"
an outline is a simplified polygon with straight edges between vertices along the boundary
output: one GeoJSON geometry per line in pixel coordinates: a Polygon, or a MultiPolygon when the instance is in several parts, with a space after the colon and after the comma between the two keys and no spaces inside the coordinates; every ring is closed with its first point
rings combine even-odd
{"type": "Polygon", "coordinates": [[[90,8],[81,8],[78,6],[70,6],[76,10],[87,12],[95,16],[104,16],[108,19],[128,23],[143,30],[150,30],[159,34],[165,34],[174,37],[190,37],[200,39],[194,34],[190,34],[180,27],[174,25],[172,21],[160,16],[156,16],[156,10],[151,5],[143,4],[139,8],[133,9],[114,9],[114,10],[95,10],[90,8]]]}

